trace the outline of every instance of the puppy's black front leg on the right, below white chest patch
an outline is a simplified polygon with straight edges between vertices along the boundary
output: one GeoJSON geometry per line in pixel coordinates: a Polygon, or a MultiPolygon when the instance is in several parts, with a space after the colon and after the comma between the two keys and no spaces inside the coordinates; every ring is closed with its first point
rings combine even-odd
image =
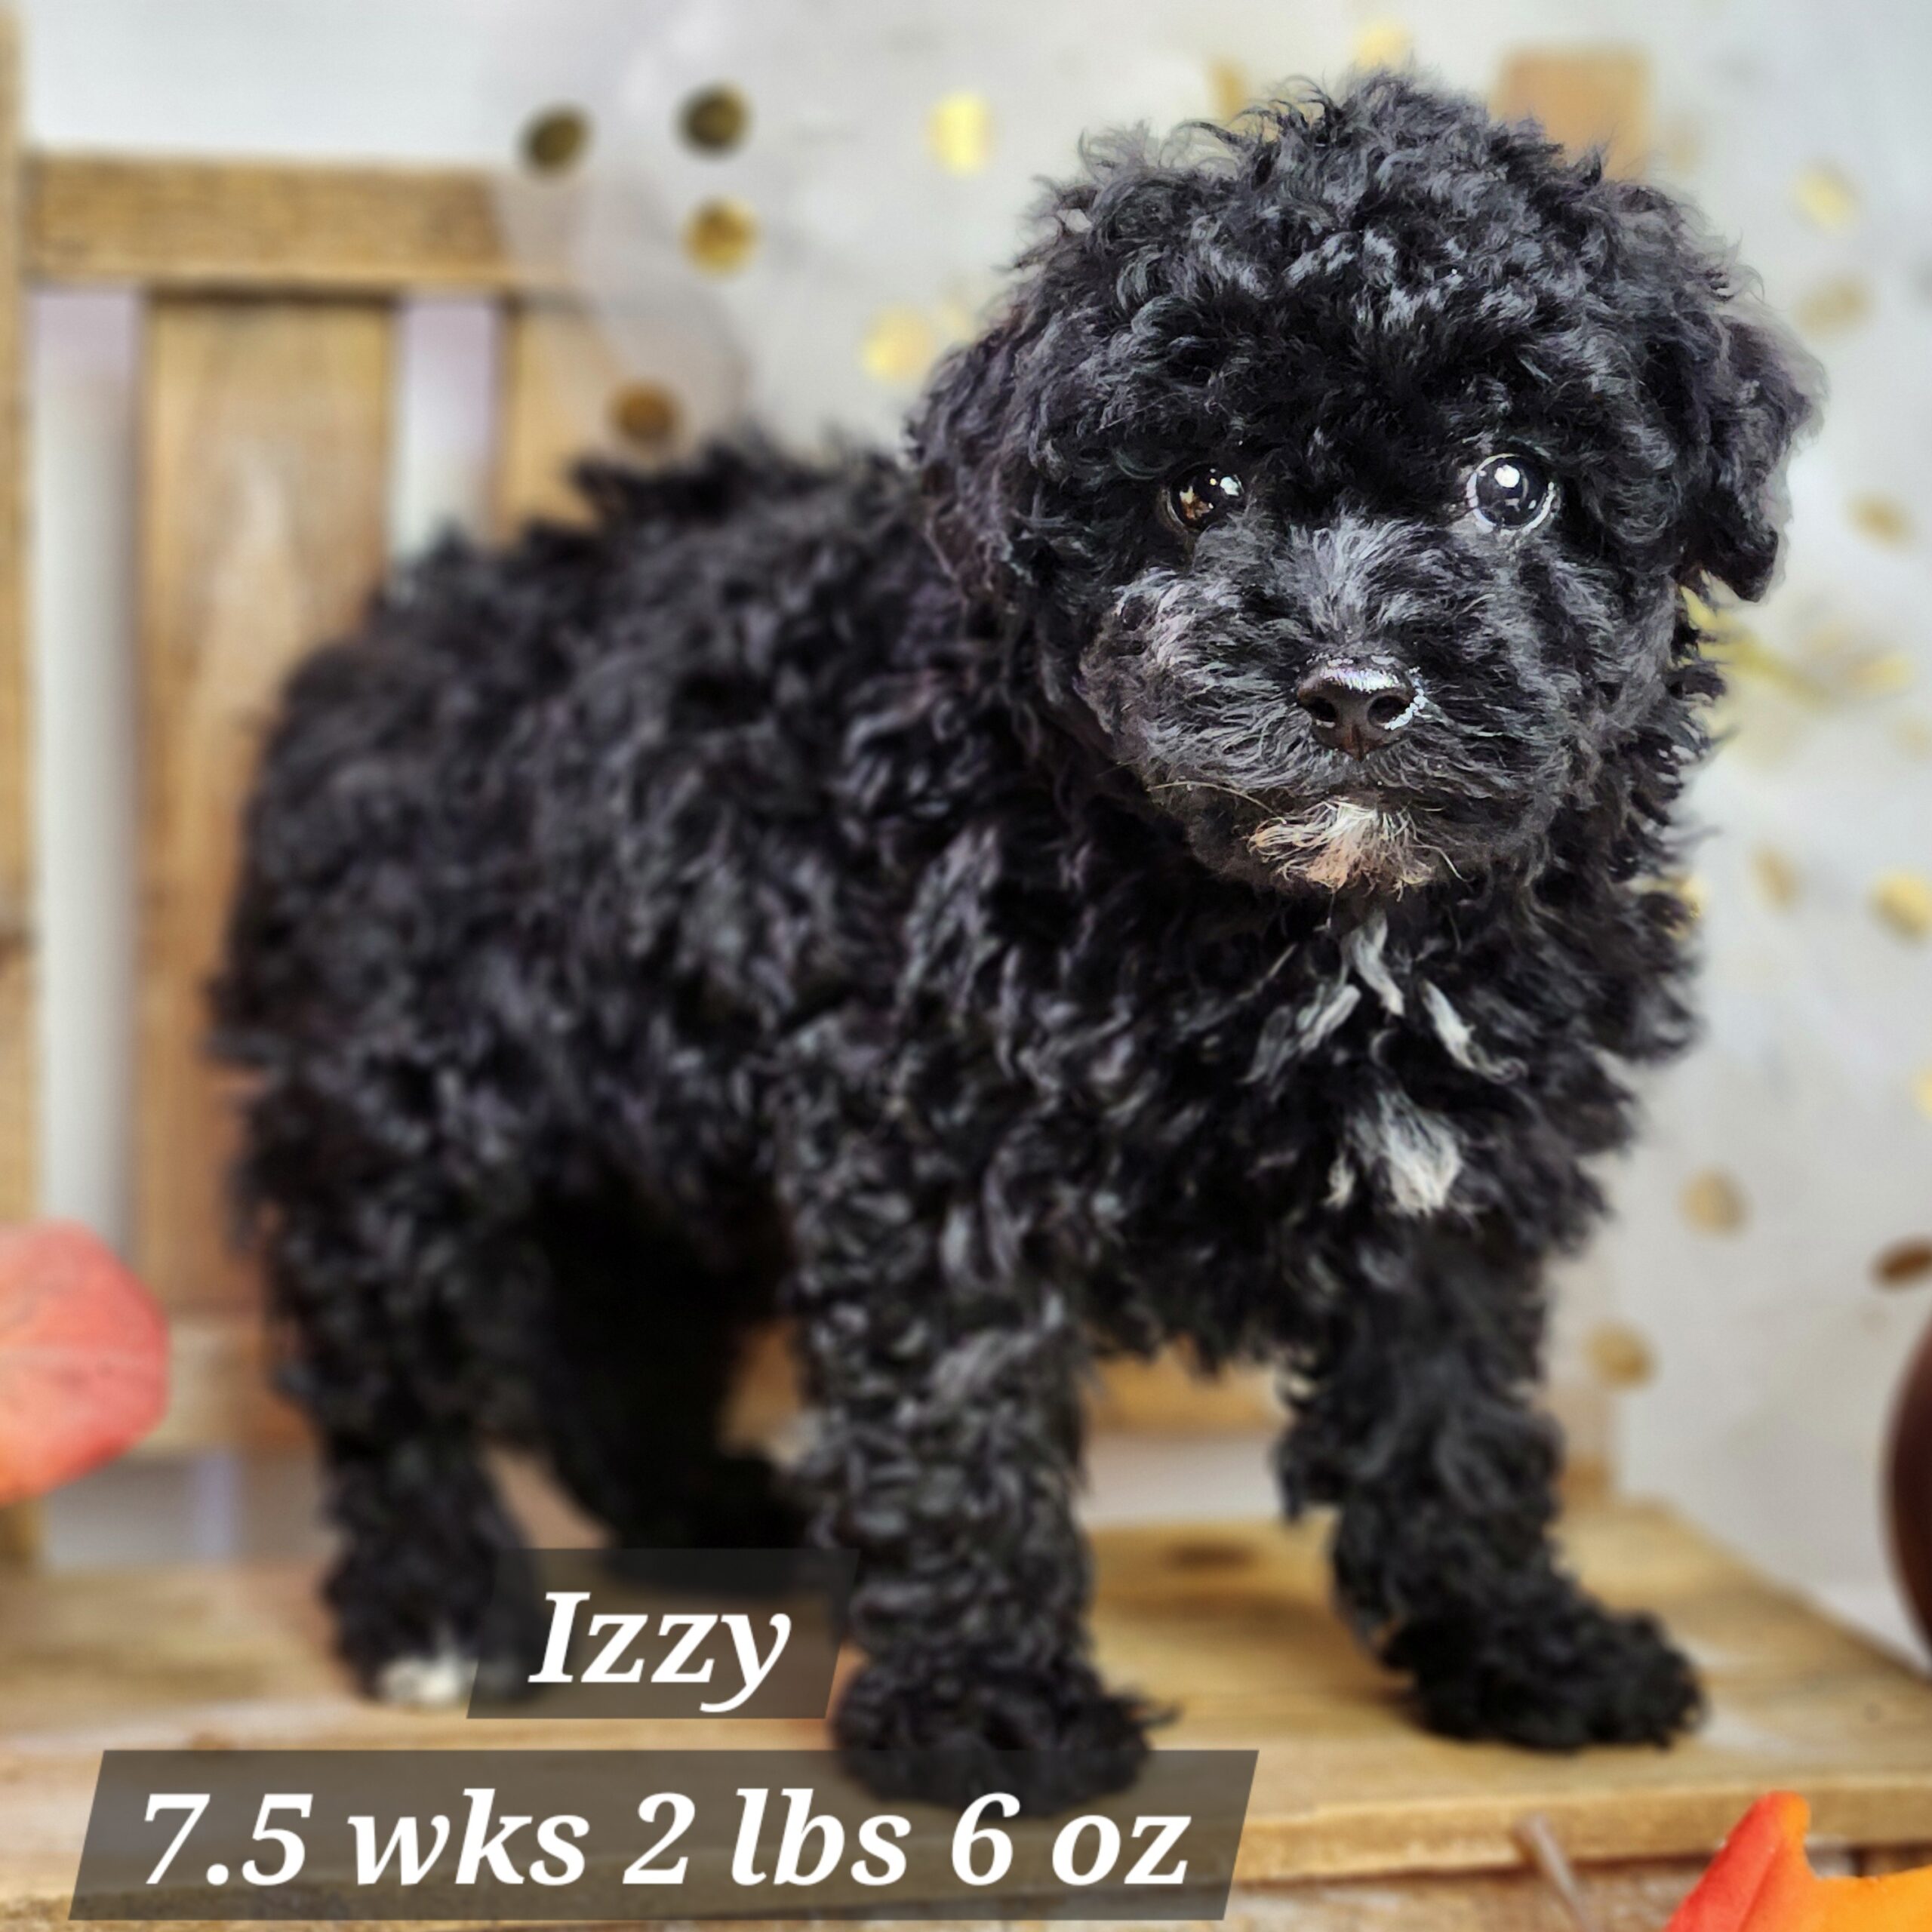
{"type": "Polygon", "coordinates": [[[1536,1262],[1499,1233],[1364,1244],[1283,1443],[1291,1513],[1335,1503],[1335,1586],[1430,1729],[1540,1750],[1665,1745],[1700,1712],[1654,1617],[1551,1548],[1559,1435],[1530,1403],[1536,1262]]]}

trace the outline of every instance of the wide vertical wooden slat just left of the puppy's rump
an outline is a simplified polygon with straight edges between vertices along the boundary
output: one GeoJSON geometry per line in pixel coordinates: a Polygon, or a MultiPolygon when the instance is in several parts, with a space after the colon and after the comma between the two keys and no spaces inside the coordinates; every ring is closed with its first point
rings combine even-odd
{"type": "Polygon", "coordinates": [[[135,1265],[172,1314],[255,1302],[226,1242],[234,1094],[203,1049],[207,980],[276,692],[384,560],[390,363],[384,303],[149,313],[135,1265]]]}

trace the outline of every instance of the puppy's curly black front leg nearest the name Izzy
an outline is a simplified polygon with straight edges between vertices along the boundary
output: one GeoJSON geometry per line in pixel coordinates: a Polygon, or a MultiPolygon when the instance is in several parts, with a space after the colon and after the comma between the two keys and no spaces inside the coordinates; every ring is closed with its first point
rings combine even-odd
{"type": "Polygon", "coordinates": [[[881,1797],[1041,1812],[1124,1787],[1144,1714],[1088,1656],[1074,1312],[993,1262],[976,1192],[922,1186],[891,1144],[798,1190],[792,1231],[808,1492],[819,1540],[860,1555],[852,1768],[881,1797]],[[1041,1756],[1022,1779],[997,1752],[1041,1756]]]}

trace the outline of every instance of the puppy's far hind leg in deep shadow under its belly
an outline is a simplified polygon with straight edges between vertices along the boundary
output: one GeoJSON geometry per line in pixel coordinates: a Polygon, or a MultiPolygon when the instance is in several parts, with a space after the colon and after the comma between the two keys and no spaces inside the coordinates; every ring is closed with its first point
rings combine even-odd
{"type": "Polygon", "coordinates": [[[773,1464],[721,1447],[732,1370],[777,1275],[757,1204],[730,1219],[730,1248],[699,1252],[616,1179],[531,1219],[553,1283],[533,1350],[539,1430],[558,1478],[622,1548],[800,1540],[773,1464]]]}

